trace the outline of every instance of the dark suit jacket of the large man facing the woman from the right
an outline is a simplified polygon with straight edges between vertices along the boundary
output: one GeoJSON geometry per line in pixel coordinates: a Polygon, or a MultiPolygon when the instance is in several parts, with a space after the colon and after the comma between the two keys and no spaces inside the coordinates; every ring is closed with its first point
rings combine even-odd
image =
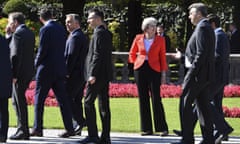
{"type": "Polygon", "coordinates": [[[192,66],[185,79],[194,79],[199,85],[214,82],[215,35],[209,22],[201,20],[188,41],[185,56],[192,66]]]}

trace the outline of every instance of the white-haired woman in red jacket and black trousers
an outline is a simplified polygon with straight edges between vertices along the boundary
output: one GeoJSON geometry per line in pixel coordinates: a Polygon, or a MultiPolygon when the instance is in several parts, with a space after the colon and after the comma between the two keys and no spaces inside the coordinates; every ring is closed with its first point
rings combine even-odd
{"type": "Polygon", "coordinates": [[[136,35],[128,62],[132,63],[134,76],[138,87],[142,135],[152,135],[152,118],[150,98],[156,132],[161,136],[168,135],[168,125],[160,97],[160,85],[166,81],[166,46],[165,39],[156,35],[157,20],[145,18],[142,22],[143,34],[136,35]]]}

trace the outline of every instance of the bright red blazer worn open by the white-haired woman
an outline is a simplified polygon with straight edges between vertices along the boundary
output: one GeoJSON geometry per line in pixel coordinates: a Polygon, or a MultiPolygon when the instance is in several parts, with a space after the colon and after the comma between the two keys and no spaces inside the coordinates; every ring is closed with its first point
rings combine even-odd
{"type": "MultiPolygon", "coordinates": [[[[143,65],[146,55],[144,34],[136,35],[129,52],[128,62],[133,63],[134,70],[136,70],[143,65]]],[[[148,63],[150,67],[157,72],[166,71],[168,69],[166,61],[166,45],[163,37],[155,36],[148,52],[148,63]]]]}

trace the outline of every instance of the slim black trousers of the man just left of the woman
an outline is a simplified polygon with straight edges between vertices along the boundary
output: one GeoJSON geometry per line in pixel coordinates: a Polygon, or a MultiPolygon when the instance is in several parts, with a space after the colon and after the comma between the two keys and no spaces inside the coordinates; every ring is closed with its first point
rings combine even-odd
{"type": "Polygon", "coordinates": [[[86,97],[84,100],[86,122],[88,127],[88,136],[98,137],[96,124],[95,100],[98,97],[99,113],[102,122],[102,138],[110,137],[111,112],[109,107],[109,82],[96,81],[95,84],[87,85],[86,97]]]}

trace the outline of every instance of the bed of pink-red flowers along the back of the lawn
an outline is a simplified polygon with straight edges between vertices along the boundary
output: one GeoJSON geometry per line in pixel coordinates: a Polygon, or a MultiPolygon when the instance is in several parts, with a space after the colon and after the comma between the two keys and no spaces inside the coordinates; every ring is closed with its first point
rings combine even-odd
{"type": "MultiPolygon", "coordinates": [[[[36,82],[32,81],[29,84],[29,88],[26,91],[26,99],[29,105],[34,104],[34,91],[36,82]]],[[[162,85],[161,86],[162,98],[178,98],[181,96],[182,89],[180,85],[162,85]]],[[[112,98],[129,98],[138,97],[137,87],[135,84],[118,84],[111,83],[109,87],[109,96],[112,98]]],[[[224,88],[224,97],[240,97],[240,86],[228,85],[224,88]]],[[[45,101],[46,106],[58,106],[56,98],[52,90],[48,92],[47,99],[45,101]]],[[[226,117],[240,117],[240,108],[228,108],[223,107],[223,111],[226,117]]]]}

